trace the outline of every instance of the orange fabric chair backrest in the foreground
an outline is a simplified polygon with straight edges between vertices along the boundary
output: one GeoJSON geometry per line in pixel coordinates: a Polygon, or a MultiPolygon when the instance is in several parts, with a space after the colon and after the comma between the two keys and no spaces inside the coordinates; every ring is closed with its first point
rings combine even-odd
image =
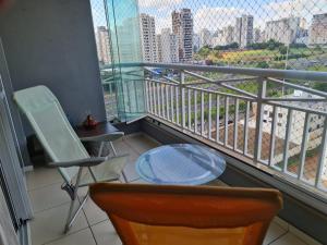
{"type": "Polygon", "coordinates": [[[258,245],[282,207],[266,188],[99,183],[90,197],[124,245],[258,245]]]}

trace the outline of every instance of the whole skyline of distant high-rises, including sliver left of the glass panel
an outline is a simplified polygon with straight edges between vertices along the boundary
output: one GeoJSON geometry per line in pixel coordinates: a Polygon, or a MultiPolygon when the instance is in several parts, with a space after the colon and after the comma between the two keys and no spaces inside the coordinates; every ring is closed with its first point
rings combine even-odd
{"type": "MultiPolygon", "coordinates": [[[[265,23],[264,30],[253,27],[252,15],[243,14],[235,17],[234,26],[229,25],[215,33],[204,28],[198,34],[193,32],[191,10],[182,9],[180,12],[174,10],[171,19],[173,23],[171,28],[162,28],[160,33],[157,33],[156,19],[145,13],[140,14],[141,48],[144,61],[189,62],[193,60],[193,52],[197,52],[202,47],[227,46],[234,42],[239,45],[239,48],[247,48],[252,44],[269,39],[284,45],[327,44],[327,13],[314,15],[311,26],[307,26],[306,21],[302,17],[290,16],[265,23]]],[[[105,42],[109,44],[108,34],[105,26],[97,27],[98,57],[102,63],[110,62],[109,49],[105,47],[105,42]]]]}

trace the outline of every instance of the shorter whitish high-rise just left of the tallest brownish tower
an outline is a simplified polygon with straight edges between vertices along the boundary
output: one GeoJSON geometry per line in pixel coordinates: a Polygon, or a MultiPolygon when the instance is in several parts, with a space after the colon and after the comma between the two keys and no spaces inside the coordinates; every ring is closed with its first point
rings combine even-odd
{"type": "Polygon", "coordinates": [[[175,63],[179,61],[179,42],[177,35],[170,32],[170,28],[161,29],[160,50],[162,62],[175,63]]]}

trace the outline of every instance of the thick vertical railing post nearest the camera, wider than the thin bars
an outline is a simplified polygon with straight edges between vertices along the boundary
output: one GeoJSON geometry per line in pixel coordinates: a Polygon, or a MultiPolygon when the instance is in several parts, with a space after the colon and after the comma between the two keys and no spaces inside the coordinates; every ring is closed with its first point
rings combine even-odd
{"type": "Polygon", "coordinates": [[[266,96],[266,79],[258,77],[258,95],[257,95],[257,108],[256,108],[256,126],[255,126],[255,145],[254,145],[254,161],[258,162],[262,156],[262,139],[263,139],[263,99],[266,96]]]}

